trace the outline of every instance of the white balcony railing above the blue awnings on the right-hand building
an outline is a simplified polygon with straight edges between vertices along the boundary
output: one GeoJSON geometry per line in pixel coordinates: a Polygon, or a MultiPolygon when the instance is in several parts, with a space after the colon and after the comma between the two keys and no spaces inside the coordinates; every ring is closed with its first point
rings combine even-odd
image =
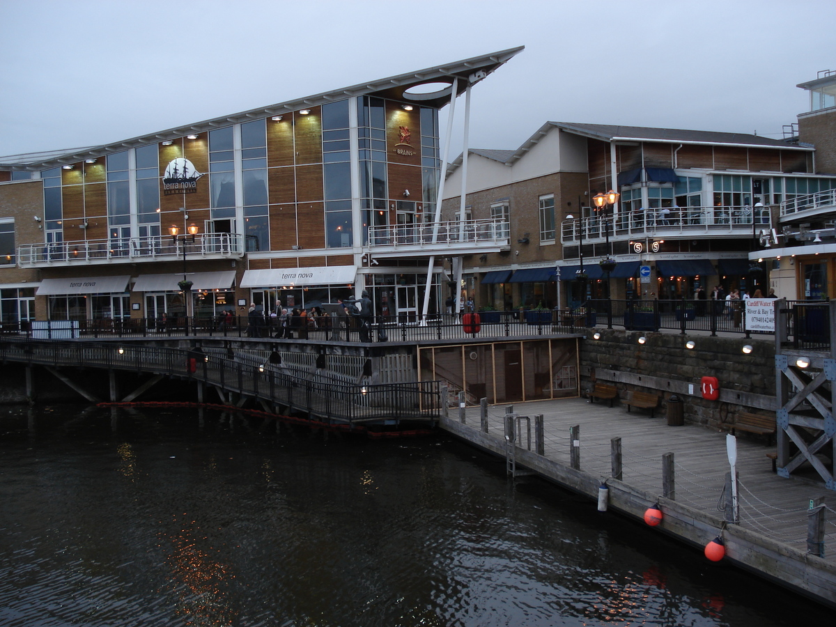
{"type": "Polygon", "coordinates": [[[585,217],[565,220],[561,242],[611,240],[638,237],[672,237],[677,234],[747,235],[756,229],[772,228],[772,214],[767,206],[687,206],[624,212],[609,218],[585,217]]]}

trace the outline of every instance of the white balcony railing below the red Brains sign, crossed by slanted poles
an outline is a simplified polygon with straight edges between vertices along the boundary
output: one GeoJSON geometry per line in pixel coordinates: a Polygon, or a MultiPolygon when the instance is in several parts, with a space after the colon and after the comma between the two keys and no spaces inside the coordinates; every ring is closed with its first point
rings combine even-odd
{"type": "Polygon", "coordinates": [[[477,247],[480,244],[506,246],[510,237],[508,222],[466,220],[434,224],[405,224],[369,228],[370,247],[477,247]]]}

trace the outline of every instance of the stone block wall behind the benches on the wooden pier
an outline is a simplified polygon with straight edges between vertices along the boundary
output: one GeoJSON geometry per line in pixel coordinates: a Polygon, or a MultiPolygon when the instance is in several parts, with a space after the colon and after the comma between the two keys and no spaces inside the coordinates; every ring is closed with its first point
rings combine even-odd
{"type": "Polygon", "coordinates": [[[594,381],[615,385],[619,399],[632,390],[659,394],[657,415],[665,416],[667,400],[684,401],[689,423],[721,428],[738,411],[769,412],[775,400],[775,345],[771,339],[712,338],[678,334],[641,333],[623,329],[587,329],[580,344],[581,391],[594,381]],[[600,334],[594,339],[593,334],[600,334]],[[645,344],[639,338],[645,337],[645,344]],[[686,348],[693,341],[693,349],[686,348]],[[752,352],[744,354],[744,345],[752,352]],[[714,376],[720,398],[701,395],[701,378],[714,376]]]}

